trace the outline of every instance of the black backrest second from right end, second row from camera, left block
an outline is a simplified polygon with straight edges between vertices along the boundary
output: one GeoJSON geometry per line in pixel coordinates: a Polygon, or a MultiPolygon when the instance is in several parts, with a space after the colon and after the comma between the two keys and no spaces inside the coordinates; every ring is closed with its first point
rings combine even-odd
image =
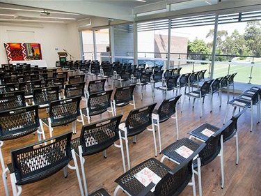
{"type": "Polygon", "coordinates": [[[100,111],[104,112],[107,108],[111,107],[111,94],[113,90],[103,91],[100,93],[91,93],[88,101],[87,107],[92,114],[101,114],[100,111]]]}

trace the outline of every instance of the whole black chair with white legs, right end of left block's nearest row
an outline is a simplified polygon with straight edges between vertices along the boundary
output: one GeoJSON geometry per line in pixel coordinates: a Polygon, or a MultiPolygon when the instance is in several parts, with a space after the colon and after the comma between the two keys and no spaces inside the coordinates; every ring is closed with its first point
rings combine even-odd
{"type": "Polygon", "coordinates": [[[179,129],[177,123],[177,101],[180,99],[182,95],[175,96],[173,98],[169,98],[164,100],[157,110],[153,110],[152,112],[152,120],[154,121],[154,125],[157,126],[158,134],[159,134],[159,152],[161,152],[161,131],[159,127],[159,123],[163,123],[168,119],[176,120],[176,131],[177,131],[177,140],[179,139],[179,129]],[[175,116],[173,116],[175,114],[175,116]]]}

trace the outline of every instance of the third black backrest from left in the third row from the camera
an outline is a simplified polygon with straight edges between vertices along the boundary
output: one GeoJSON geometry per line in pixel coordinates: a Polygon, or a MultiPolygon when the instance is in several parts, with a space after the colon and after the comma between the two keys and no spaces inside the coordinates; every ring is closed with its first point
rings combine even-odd
{"type": "Polygon", "coordinates": [[[84,96],[85,97],[85,82],[66,84],[64,89],[65,98],[71,98],[74,96],[84,96]]]}

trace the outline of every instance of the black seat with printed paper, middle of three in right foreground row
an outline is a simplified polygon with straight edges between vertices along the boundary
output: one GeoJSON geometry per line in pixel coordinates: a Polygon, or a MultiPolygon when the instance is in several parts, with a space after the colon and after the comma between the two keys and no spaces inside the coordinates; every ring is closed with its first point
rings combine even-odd
{"type": "Polygon", "coordinates": [[[162,150],[161,153],[163,153],[165,156],[168,156],[169,158],[172,158],[177,163],[182,163],[194,151],[196,151],[199,146],[200,144],[198,144],[197,142],[193,142],[189,138],[184,137],[166,147],[166,149],[162,150]],[[184,151],[182,149],[184,149],[184,151]],[[187,151],[187,149],[189,150],[187,151]],[[183,156],[181,154],[183,154],[183,156]]]}

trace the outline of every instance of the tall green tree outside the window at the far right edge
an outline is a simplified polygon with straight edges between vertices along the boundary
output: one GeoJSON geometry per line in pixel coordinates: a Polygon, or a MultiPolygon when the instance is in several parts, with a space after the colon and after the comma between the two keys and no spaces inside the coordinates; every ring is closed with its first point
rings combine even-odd
{"type": "Polygon", "coordinates": [[[252,55],[261,55],[261,23],[259,21],[247,22],[244,38],[252,55]]]}

